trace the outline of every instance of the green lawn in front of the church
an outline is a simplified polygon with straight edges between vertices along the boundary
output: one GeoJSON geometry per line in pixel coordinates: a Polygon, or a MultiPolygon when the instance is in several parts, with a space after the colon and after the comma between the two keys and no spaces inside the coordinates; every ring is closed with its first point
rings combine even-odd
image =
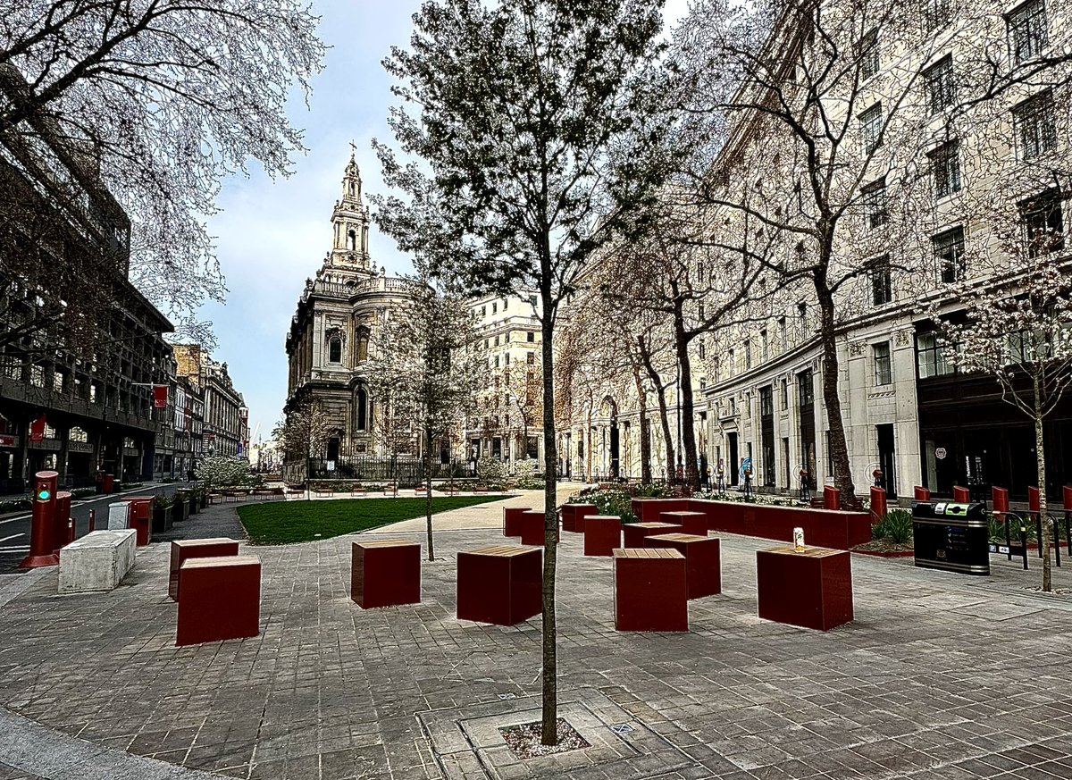
{"type": "MultiPolygon", "coordinates": [[[[443,496],[433,512],[502,500],[503,496],[443,496]]],[[[330,501],[271,501],[238,507],[254,544],[293,544],[353,534],[425,516],[425,498],[343,498],[330,501]]]]}

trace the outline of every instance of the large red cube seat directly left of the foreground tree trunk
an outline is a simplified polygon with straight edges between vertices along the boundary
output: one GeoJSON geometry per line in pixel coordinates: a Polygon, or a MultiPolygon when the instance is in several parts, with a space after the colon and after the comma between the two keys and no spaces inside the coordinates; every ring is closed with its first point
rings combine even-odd
{"type": "Polygon", "coordinates": [[[513,626],[544,612],[544,551],[497,544],[458,553],[458,619],[513,626]]]}

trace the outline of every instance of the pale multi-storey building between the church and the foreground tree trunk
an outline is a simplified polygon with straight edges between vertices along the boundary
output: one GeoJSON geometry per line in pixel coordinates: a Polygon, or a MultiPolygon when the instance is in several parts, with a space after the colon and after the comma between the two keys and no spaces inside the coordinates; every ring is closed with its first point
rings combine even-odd
{"type": "Polygon", "coordinates": [[[468,458],[520,461],[544,456],[542,359],[535,292],[473,301],[477,347],[488,371],[470,423],[468,458]]]}

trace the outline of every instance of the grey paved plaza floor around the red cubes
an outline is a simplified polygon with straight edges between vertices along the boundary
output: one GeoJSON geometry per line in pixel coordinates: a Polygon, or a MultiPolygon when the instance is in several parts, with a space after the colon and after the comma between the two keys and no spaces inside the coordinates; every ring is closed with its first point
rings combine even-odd
{"type": "MultiPolygon", "coordinates": [[[[55,569],[0,578],[0,780],[1072,778],[1072,596],[1029,589],[1037,559],[970,578],[854,555],[855,621],[822,633],[756,616],[772,543],[729,535],[724,592],[690,602],[688,633],[628,634],[610,559],[563,534],[561,714],[592,747],[518,762],[497,729],[538,717],[539,618],[455,618],[456,555],[502,540],[503,506],[444,519],[412,606],[349,600],[354,536],[243,545],[264,575],[242,641],[175,647],[167,544],[107,595],[57,596],[55,569]]],[[[241,537],[233,505],[176,529],[221,534],[241,537]]]]}

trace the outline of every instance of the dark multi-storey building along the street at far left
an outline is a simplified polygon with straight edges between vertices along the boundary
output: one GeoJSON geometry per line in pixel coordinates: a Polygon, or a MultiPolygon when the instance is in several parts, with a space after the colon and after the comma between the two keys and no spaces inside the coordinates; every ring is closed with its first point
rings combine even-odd
{"type": "Polygon", "coordinates": [[[0,493],[45,468],[148,478],[172,324],[128,281],[130,220],[92,155],[28,121],[39,142],[0,144],[0,493]]]}

